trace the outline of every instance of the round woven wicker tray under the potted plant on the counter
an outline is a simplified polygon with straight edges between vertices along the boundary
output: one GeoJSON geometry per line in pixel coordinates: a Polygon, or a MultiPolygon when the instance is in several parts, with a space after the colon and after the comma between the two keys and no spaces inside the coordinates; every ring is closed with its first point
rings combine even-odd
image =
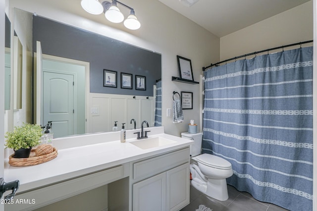
{"type": "Polygon", "coordinates": [[[29,158],[14,158],[14,154],[9,157],[9,164],[13,166],[27,166],[37,165],[43,162],[50,161],[57,157],[57,150],[54,148],[53,152],[44,156],[35,156],[35,149],[31,150],[29,158]]]}

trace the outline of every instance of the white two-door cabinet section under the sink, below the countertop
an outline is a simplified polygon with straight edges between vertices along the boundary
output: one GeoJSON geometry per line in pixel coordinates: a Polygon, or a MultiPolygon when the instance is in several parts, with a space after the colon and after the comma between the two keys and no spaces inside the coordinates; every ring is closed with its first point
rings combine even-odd
{"type": "Polygon", "coordinates": [[[132,210],[178,211],[189,204],[189,148],[132,164],[132,210]]]}

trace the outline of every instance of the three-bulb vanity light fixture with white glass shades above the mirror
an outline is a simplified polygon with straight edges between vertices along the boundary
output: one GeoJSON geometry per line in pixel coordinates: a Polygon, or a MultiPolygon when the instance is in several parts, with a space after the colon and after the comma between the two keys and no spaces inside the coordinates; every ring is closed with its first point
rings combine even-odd
{"type": "Polygon", "coordinates": [[[138,18],[135,16],[134,9],[120,1],[112,0],[111,3],[109,1],[100,3],[99,0],[81,0],[81,6],[91,14],[101,14],[104,12],[106,19],[112,23],[121,23],[124,20],[123,25],[128,29],[136,30],[141,27],[138,18]],[[130,9],[130,15],[127,19],[124,20],[124,16],[118,8],[117,3],[130,9]]]}

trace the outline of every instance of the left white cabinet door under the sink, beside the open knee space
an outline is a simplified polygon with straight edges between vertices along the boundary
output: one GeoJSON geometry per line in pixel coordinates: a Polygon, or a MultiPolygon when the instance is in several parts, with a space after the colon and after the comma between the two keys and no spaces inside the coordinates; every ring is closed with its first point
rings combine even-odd
{"type": "Polygon", "coordinates": [[[133,184],[133,211],[166,210],[166,173],[133,184]]]}

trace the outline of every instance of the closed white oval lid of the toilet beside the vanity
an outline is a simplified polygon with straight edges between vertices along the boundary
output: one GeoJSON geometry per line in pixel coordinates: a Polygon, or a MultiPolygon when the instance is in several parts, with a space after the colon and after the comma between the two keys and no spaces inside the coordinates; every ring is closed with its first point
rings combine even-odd
{"type": "Polygon", "coordinates": [[[210,154],[202,154],[202,155],[196,156],[196,160],[200,163],[211,166],[213,168],[220,168],[220,169],[231,168],[231,163],[229,161],[214,155],[210,155],[210,154]]]}

